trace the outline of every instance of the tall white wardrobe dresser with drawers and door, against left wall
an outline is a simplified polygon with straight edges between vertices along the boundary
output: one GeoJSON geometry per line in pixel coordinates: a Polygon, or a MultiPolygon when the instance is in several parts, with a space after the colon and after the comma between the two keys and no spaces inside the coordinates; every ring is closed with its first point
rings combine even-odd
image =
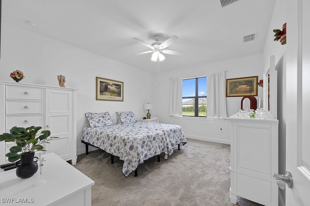
{"type": "MultiPolygon", "coordinates": [[[[45,153],[54,152],[65,161],[77,162],[77,89],[0,81],[0,133],[14,126],[41,126],[59,137],[45,144],[45,153]]],[[[0,164],[15,143],[0,142],[0,164]]]]}

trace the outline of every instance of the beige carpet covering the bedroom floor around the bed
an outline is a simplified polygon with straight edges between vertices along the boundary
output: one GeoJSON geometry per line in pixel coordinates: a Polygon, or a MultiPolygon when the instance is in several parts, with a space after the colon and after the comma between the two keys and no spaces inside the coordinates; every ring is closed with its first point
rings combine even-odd
{"type": "MultiPolygon", "coordinates": [[[[123,161],[102,150],[79,155],[74,165],[95,181],[93,206],[232,206],[230,145],[187,139],[181,150],[161,162],[149,159],[124,177],[123,161]]],[[[240,206],[261,206],[238,198],[240,206]]]]}

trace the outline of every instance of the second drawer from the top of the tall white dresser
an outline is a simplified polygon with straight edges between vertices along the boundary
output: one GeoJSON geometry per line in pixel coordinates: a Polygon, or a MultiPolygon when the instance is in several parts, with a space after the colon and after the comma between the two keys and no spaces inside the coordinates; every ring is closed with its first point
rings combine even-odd
{"type": "Polygon", "coordinates": [[[43,101],[6,101],[6,114],[31,114],[43,113],[43,101]]]}

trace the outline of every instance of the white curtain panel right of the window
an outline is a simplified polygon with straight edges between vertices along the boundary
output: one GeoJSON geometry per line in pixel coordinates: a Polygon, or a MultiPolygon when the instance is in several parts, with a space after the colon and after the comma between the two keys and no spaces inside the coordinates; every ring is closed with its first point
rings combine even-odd
{"type": "Polygon", "coordinates": [[[207,74],[207,117],[227,118],[225,72],[207,74]]]}

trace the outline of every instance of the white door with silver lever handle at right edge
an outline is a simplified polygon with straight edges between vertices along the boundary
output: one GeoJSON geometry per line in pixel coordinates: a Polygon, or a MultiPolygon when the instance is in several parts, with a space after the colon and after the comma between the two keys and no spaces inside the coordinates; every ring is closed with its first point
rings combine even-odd
{"type": "Polygon", "coordinates": [[[310,204],[310,1],[287,0],[286,206],[310,204]]]}

